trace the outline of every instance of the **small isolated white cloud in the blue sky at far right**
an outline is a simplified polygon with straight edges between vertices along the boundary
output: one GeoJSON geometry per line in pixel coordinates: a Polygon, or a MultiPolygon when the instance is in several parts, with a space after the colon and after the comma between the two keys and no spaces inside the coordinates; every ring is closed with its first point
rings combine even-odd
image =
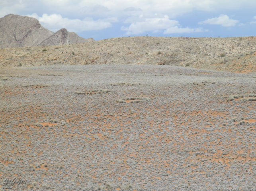
{"type": "Polygon", "coordinates": [[[239,23],[239,21],[230,19],[228,15],[221,14],[219,17],[207,19],[205,21],[199,22],[198,24],[222,25],[223,27],[233,27],[236,25],[236,23],[239,23]]]}

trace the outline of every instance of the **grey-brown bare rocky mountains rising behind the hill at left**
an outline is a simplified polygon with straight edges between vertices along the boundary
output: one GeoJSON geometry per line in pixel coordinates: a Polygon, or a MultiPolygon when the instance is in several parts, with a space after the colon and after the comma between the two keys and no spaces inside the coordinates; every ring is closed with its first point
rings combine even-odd
{"type": "Polygon", "coordinates": [[[33,17],[9,14],[0,18],[0,48],[21,46],[52,46],[92,42],[75,32],[60,29],[57,32],[45,29],[33,17]]]}

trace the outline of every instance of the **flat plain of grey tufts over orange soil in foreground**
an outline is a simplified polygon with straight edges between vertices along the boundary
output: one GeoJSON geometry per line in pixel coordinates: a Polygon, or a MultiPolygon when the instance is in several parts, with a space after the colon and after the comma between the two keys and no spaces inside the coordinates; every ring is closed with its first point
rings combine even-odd
{"type": "Polygon", "coordinates": [[[255,189],[255,79],[169,65],[2,68],[1,180],[39,190],[255,189]]]}

